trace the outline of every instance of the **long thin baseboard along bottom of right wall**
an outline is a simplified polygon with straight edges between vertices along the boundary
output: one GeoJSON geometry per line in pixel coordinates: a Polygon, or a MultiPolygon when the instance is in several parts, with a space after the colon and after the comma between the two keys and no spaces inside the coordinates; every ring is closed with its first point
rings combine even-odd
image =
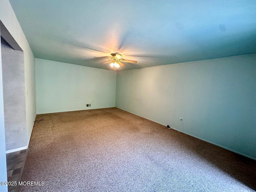
{"type": "MultiPolygon", "coordinates": [[[[121,109],[121,110],[124,110],[124,109],[119,108],[119,107],[116,107],[116,108],[121,109]]],[[[132,114],[134,114],[134,115],[140,116],[140,117],[142,117],[142,118],[148,119],[148,120],[150,120],[150,121],[156,122],[156,123],[158,123],[158,124],[161,124],[161,125],[164,125],[164,126],[167,127],[167,125],[165,125],[165,124],[162,124],[162,123],[160,123],[160,122],[157,122],[157,121],[154,121],[154,120],[152,120],[152,119],[146,118],[146,117],[144,117],[144,116],[138,115],[138,114],[136,114],[136,113],[133,113],[133,112],[130,112],[130,111],[127,111],[127,110],[124,110],[124,111],[129,112],[129,113],[132,113],[132,114]]],[[[249,156],[249,155],[246,155],[246,154],[237,152],[237,151],[232,150],[232,149],[230,149],[230,148],[224,147],[224,146],[222,146],[222,145],[220,145],[220,144],[216,144],[216,143],[214,143],[214,142],[205,140],[205,139],[200,138],[200,137],[198,137],[198,136],[194,136],[194,135],[192,135],[192,134],[186,133],[186,132],[184,132],[184,131],[178,130],[178,129],[173,128],[173,127],[170,127],[170,128],[172,128],[172,129],[174,129],[174,130],[176,130],[176,131],[178,131],[178,132],[182,132],[182,133],[184,133],[184,134],[186,134],[186,135],[189,135],[189,136],[195,137],[195,138],[197,138],[197,139],[203,140],[203,141],[208,142],[208,143],[210,143],[210,144],[219,146],[219,147],[224,148],[224,149],[226,149],[226,150],[232,151],[232,152],[234,152],[234,153],[240,154],[240,155],[242,155],[242,156],[246,156],[246,157],[248,157],[248,158],[251,158],[251,159],[253,159],[253,160],[256,160],[256,158],[254,158],[254,157],[252,157],[252,156],[249,156]]]]}

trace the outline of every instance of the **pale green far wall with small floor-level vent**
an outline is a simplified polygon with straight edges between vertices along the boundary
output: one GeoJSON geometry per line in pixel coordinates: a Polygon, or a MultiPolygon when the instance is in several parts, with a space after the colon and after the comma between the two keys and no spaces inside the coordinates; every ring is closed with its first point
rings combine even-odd
{"type": "Polygon", "coordinates": [[[114,107],[115,100],[116,71],[36,59],[37,114],[114,107]]]}

